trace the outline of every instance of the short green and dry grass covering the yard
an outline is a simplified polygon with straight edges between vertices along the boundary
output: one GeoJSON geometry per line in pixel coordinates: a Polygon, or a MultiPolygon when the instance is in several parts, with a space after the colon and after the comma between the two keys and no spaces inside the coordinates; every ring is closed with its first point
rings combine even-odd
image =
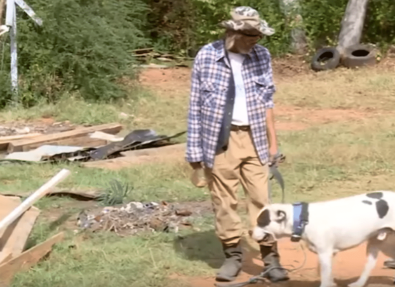
{"type": "MultiPolygon", "coordinates": [[[[395,73],[387,69],[337,69],[278,80],[276,101],[306,109],[372,110],[367,118],[314,124],[300,131],[279,131],[286,161],[280,166],[286,200],[325,200],[371,190],[391,190],[394,166],[395,73]]],[[[58,104],[29,110],[5,111],[0,119],[34,119],[44,114],[75,123],[121,121],[130,128],[153,128],[160,133],[186,129],[187,91],[177,97],[138,90],[129,100],[112,104],[86,103],[65,97],[58,104]],[[182,95],[185,94],[185,97],[182,95]],[[124,112],[130,117],[120,118],[124,112]]],[[[308,119],[308,114],[305,115],[308,119]]],[[[182,139],[181,139],[182,140],[182,139]]],[[[77,163],[8,164],[0,166],[0,193],[33,191],[61,168],[71,175],[59,188],[104,188],[112,179],[127,182],[129,200],[208,200],[206,189],[189,182],[184,162],[144,164],[120,171],[87,169],[77,163]]],[[[273,199],[281,192],[273,183],[273,199]]],[[[243,193],[240,193],[243,198],[243,193]]],[[[37,207],[47,210],[69,199],[45,198],[37,207]]],[[[67,233],[49,258],[16,275],[12,286],[188,286],[184,276],[211,276],[222,260],[214,235],[212,214],[193,221],[194,229],[179,234],[152,233],[117,237],[109,233],[67,233]]],[[[57,232],[53,222],[39,218],[30,235],[38,243],[57,232]],[[52,225],[51,225],[52,224],[52,225]]]]}

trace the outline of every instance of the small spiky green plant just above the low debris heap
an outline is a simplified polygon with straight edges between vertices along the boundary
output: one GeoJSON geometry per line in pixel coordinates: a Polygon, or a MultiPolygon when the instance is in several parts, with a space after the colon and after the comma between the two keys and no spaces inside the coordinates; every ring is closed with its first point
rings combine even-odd
{"type": "Polygon", "coordinates": [[[129,192],[133,188],[129,188],[128,183],[122,183],[118,180],[112,180],[107,184],[106,189],[100,195],[98,201],[105,206],[122,204],[129,192]]]}

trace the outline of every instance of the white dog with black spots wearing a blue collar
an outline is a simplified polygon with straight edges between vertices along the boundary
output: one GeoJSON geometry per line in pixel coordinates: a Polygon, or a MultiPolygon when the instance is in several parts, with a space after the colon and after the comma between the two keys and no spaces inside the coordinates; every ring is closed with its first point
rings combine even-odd
{"type": "MultiPolygon", "coordinates": [[[[395,258],[395,193],[376,191],[331,201],[308,204],[308,223],[301,239],[318,254],[321,265],[320,287],[336,285],[332,277],[332,257],[367,242],[367,263],[360,278],[350,287],[366,284],[376,265],[378,252],[395,258]]],[[[294,232],[294,205],[270,204],[257,219],[252,237],[260,241],[291,237],[294,232]]]]}

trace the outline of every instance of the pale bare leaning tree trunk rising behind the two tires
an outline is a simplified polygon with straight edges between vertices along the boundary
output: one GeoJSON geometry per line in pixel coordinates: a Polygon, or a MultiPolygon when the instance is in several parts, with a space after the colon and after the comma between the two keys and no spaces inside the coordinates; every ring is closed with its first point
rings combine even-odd
{"type": "Polygon", "coordinates": [[[336,47],[340,55],[348,46],[359,44],[369,0],[349,0],[339,33],[339,44],[336,47]]]}

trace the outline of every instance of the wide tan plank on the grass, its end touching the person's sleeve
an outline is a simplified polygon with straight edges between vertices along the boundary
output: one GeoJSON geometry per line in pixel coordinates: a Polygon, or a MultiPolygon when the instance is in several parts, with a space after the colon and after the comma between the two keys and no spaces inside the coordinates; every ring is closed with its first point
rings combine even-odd
{"type": "MultiPolygon", "coordinates": [[[[171,146],[160,147],[155,149],[144,149],[144,150],[152,150],[150,152],[145,151],[147,153],[150,153],[150,155],[149,154],[145,154],[145,155],[142,154],[137,156],[131,155],[131,156],[118,157],[113,159],[88,161],[82,163],[82,165],[84,167],[118,170],[121,168],[130,167],[137,164],[184,161],[185,146],[183,147],[181,144],[172,152],[169,151],[170,148],[171,146]]],[[[141,153],[144,153],[143,150],[140,151],[141,153]]],[[[139,154],[137,150],[135,152],[136,152],[135,154],[139,154]]],[[[133,154],[133,153],[129,153],[129,154],[133,154]]]]}

